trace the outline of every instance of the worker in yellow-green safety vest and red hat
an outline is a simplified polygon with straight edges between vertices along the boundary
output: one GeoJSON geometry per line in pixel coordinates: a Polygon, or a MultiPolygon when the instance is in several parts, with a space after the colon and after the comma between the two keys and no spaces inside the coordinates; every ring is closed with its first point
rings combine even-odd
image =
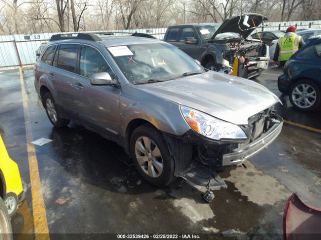
{"type": "Polygon", "coordinates": [[[273,61],[275,64],[284,66],[285,62],[302,46],[305,45],[303,38],[296,35],[295,26],[289,26],[284,36],[277,41],[273,61]]]}

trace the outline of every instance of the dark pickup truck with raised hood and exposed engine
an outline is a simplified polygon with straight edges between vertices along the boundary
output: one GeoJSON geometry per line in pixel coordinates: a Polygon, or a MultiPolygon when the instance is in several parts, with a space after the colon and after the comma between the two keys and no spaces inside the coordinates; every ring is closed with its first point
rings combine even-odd
{"type": "Polygon", "coordinates": [[[267,18],[245,13],[220,23],[194,23],[168,27],[164,40],[172,43],[202,66],[215,71],[232,71],[234,58],[247,59],[247,78],[254,78],[268,67],[269,49],[257,39],[248,39],[255,26],[267,18]]]}

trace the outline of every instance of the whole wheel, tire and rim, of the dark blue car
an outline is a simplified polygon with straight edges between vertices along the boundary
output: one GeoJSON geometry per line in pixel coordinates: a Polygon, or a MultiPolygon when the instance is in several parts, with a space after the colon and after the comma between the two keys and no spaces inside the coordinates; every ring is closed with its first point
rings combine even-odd
{"type": "Polygon", "coordinates": [[[296,109],[302,111],[314,111],[320,107],[321,90],[320,87],[312,80],[299,80],[291,86],[289,99],[292,106],[296,109]]]}

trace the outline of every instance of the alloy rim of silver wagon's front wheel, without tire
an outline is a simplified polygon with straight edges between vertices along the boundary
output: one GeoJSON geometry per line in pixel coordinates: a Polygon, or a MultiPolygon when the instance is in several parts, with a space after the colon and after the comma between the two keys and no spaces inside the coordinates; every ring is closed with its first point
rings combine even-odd
{"type": "Polygon", "coordinates": [[[164,162],[158,146],[147,136],[138,137],[135,155],[141,169],[150,177],[158,177],[164,169],[164,162]]]}

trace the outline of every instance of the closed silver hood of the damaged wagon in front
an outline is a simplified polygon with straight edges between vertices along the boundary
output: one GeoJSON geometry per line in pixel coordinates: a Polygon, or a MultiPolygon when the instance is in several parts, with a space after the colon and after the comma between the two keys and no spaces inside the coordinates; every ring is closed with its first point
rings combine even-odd
{"type": "Polygon", "coordinates": [[[261,84],[215,71],[141,84],[138,89],[234,124],[248,124],[250,116],[281,102],[261,84]]]}

